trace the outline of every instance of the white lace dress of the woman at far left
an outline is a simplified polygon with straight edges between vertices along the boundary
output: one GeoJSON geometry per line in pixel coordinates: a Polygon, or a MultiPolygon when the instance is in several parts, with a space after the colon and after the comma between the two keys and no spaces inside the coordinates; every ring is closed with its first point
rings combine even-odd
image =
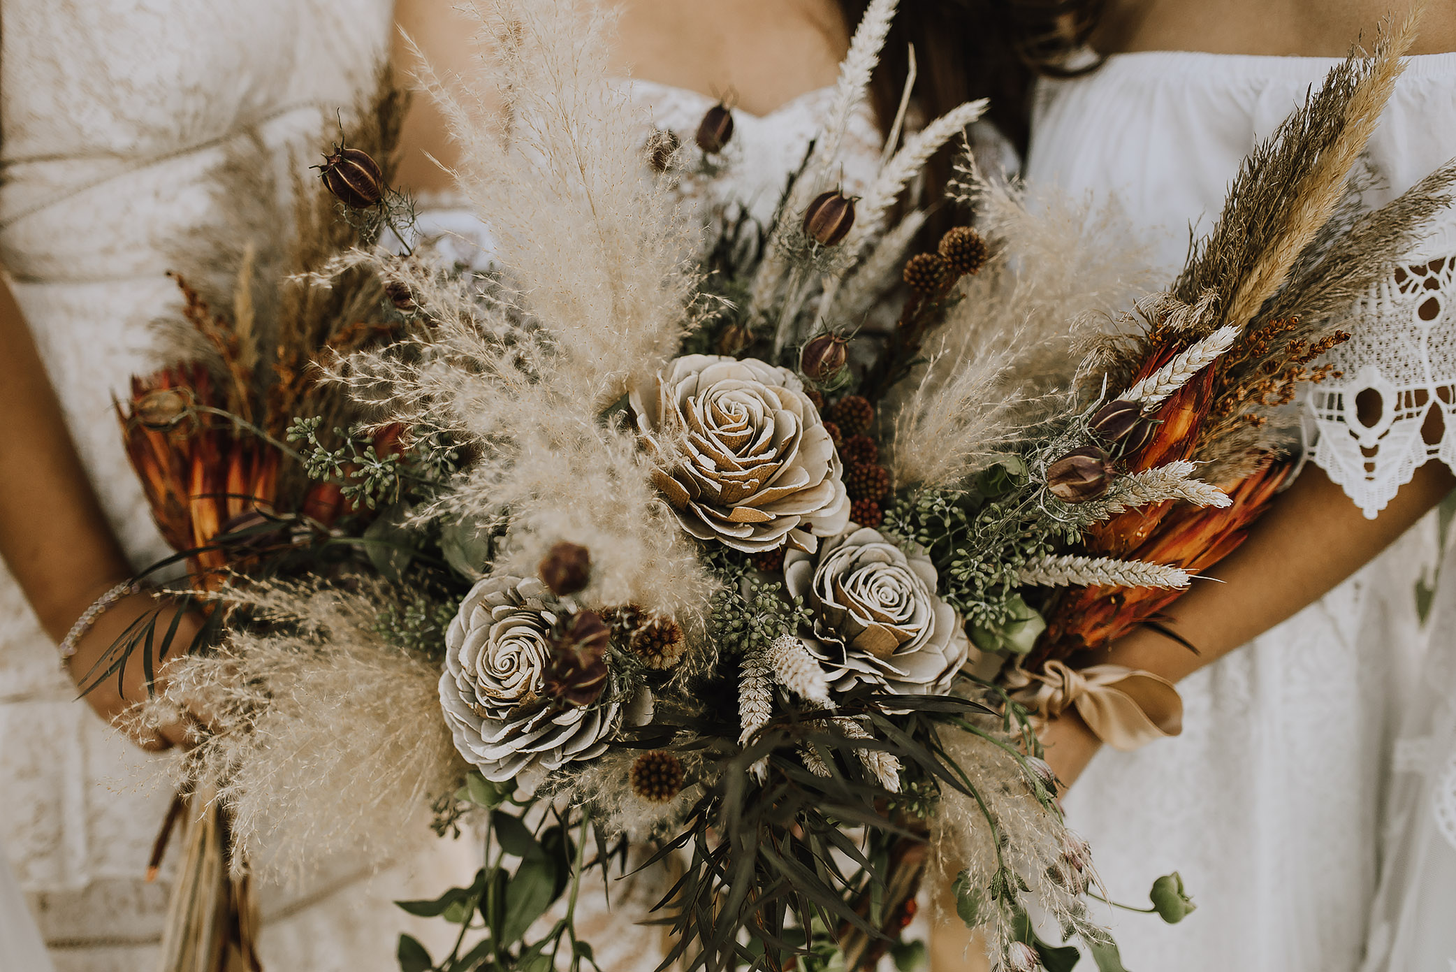
{"type": "MultiPolygon", "coordinates": [[[[287,146],[312,149],[371,83],[390,15],[390,0],[4,0],[0,267],[137,565],[165,546],[111,395],[156,364],[147,322],[178,302],[165,254],[217,216],[210,172],[230,138],[256,131],[280,162],[287,146]]],[[[170,794],[150,783],[149,762],[76,701],[0,567],[0,845],[60,972],[156,963],[167,887],[141,876],[170,794]]],[[[399,874],[373,887],[358,877],[345,867],[265,889],[269,969],[397,969],[408,922],[390,898],[454,874],[414,887],[399,874]]],[[[32,972],[13,965],[17,940],[0,937],[0,969],[32,972]]]]}

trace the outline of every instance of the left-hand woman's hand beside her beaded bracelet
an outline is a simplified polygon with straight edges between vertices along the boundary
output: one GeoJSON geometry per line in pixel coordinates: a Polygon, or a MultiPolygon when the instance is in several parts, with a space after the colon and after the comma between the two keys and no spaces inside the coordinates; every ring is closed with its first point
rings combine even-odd
{"type": "MultiPolygon", "coordinates": [[[[96,710],[98,716],[108,723],[114,723],[118,716],[124,714],[132,705],[144,702],[149,694],[154,694],[166,686],[167,666],[186,651],[186,647],[192,644],[201,627],[202,621],[195,614],[183,614],[178,618],[176,606],[166,600],[157,600],[157,597],[146,592],[135,593],[118,600],[96,618],[90,630],[77,641],[76,654],[67,662],[67,669],[77,686],[86,688],[95,683],[83,698],[96,710]],[[127,659],[119,679],[116,672],[102,678],[102,673],[111,667],[116,657],[112,653],[116,641],[127,634],[127,630],[134,622],[146,619],[153,614],[156,615],[156,627],[150,648],[146,640],[143,640],[134,647],[131,657],[127,659]],[[173,619],[176,619],[178,627],[163,659],[162,643],[166,640],[173,619]],[[151,651],[150,670],[156,676],[153,686],[147,685],[147,666],[141,657],[141,653],[147,650],[151,651]]],[[[156,752],[185,743],[186,733],[188,721],[178,720],[159,727],[156,733],[147,736],[132,734],[132,739],[143,749],[156,752]]]]}

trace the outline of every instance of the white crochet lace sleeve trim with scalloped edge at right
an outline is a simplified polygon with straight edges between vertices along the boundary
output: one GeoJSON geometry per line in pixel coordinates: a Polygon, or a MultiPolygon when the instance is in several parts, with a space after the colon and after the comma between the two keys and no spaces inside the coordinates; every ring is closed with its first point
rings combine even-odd
{"type": "Polygon", "coordinates": [[[1456,468],[1456,211],[1353,318],[1309,395],[1309,458],[1374,519],[1430,459],[1456,468]]]}

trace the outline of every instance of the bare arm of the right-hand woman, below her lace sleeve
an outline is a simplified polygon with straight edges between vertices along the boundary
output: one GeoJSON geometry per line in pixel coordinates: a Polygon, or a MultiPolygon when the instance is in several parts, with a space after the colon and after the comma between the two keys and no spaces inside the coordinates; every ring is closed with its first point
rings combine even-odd
{"type": "MultiPolygon", "coordinates": [[[[1380,516],[1367,520],[1324,469],[1307,466],[1255,525],[1248,541],[1175,600],[1166,627],[1198,654],[1150,628],[1137,628],[1099,660],[1178,681],[1216,662],[1313,603],[1356,573],[1456,488],[1444,463],[1430,462],[1380,516]]],[[[1041,733],[1047,762],[1072,784],[1101,742],[1070,710],[1041,733]]],[[[1153,743],[1156,745],[1156,743],[1153,743]]]]}

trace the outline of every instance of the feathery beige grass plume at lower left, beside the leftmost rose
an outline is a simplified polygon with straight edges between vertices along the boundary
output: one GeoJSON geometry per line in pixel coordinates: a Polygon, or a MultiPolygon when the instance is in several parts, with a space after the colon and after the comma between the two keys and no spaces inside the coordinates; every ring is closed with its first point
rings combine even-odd
{"type": "Polygon", "coordinates": [[[163,701],[211,716],[179,772],[232,812],[234,869],[297,877],[342,851],[383,866],[431,836],[431,799],[460,785],[438,666],[377,634],[384,586],[351,587],[229,590],[266,631],[169,669],[163,701]]]}

